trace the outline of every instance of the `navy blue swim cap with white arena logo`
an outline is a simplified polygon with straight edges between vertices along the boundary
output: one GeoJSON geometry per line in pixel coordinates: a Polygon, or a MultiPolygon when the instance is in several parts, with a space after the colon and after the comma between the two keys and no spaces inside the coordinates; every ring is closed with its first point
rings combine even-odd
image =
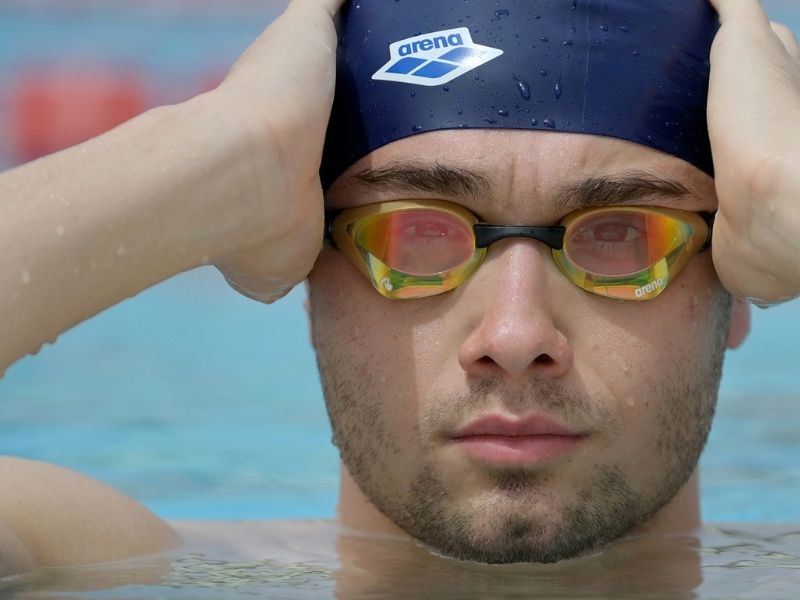
{"type": "Polygon", "coordinates": [[[713,174],[708,0],[352,0],[340,18],[326,189],[441,129],[611,136],[713,174]]]}

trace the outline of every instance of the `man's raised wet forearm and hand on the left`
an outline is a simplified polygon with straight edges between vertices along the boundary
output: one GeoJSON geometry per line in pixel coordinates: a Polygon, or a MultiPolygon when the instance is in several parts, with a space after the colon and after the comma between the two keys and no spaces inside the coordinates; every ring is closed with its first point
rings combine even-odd
{"type": "Polygon", "coordinates": [[[305,279],[342,1],[292,0],[217,89],[0,173],[0,376],[200,265],[265,302],[305,279]]]}

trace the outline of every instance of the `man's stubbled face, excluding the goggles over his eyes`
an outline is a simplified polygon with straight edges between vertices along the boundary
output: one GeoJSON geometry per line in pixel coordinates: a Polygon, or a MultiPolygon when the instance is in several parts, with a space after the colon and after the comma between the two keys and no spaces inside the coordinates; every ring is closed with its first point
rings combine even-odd
{"type": "MultiPolygon", "coordinates": [[[[670,156],[614,139],[518,131],[395,142],[351,168],[327,204],[440,198],[489,223],[547,225],[570,210],[565,189],[592,180],[600,193],[609,186],[599,178],[632,175],[690,192],[648,192],[636,204],[715,209],[711,179],[670,156]],[[464,184],[465,173],[480,185],[464,184]]],[[[730,320],[710,252],[655,300],[623,302],[575,287],[529,239],[494,244],[461,287],[417,300],[381,297],[327,248],[310,276],[310,302],[349,472],[409,534],[482,562],[578,556],[669,502],[705,443],[730,320]],[[530,437],[542,451],[523,442],[521,453],[492,446],[491,436],[465,443],[465,428],[486,432],[492,419],[566,435],[530,437]]]]}

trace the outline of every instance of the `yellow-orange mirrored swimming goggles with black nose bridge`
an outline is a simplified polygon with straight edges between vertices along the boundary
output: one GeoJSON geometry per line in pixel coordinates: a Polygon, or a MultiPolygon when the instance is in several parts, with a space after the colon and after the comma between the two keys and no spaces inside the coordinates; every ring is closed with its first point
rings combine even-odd
{"type": "Polygon", "coordinates": [[[711,213],[606,206],[557,226],[480,222],[442,200],[396,200],[326,212],[327,238],[391,299],[424,298],[464,283],[493,243],[529,238],[552,250],[579,288],[618,300],[651,300],[711,243],[711,213]]]}

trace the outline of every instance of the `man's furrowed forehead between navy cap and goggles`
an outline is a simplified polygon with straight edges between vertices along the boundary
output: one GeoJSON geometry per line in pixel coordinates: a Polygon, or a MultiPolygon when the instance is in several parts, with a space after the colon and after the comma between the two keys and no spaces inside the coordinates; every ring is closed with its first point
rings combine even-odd
{"type": "MultiPolygon", "coordinates": [[[[414,177],[425,179],[423,191],[430,180],[438,179],[442,188],[449,185],[465,196],[495,200],[552,197],[602,178],[663,180],[692,194],[713,196],[713,180],[696,167],[625,140],[542,131],[444,130],[378,148],[345,172],[329,198],[338,204],[343,197],[368,191],[377,194],[374,201],[381,201],[402,195],[405,184],[414,187],[414,177]]],[[[432,187],[436,189],[425,195],[440,195],[439,186],[432,187]]]]}

